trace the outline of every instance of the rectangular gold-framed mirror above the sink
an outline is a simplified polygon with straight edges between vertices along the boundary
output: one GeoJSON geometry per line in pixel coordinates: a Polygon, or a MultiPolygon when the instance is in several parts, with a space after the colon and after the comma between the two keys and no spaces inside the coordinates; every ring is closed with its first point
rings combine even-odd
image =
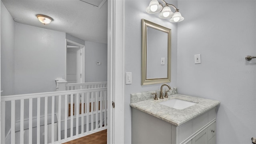
{"type": "Polygon", "coordinates": [[[171,82],[171,33],[142,19],[141,85],[171,82]]]}

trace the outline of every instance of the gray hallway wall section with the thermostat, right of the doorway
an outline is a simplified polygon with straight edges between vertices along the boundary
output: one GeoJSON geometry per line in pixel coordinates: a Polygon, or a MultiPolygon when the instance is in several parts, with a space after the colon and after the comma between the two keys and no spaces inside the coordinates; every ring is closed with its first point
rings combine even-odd
{"type": "Polygon", "coordinates": [[[108,45],[85,41],[85,82],[106,82],[108,45]],[[100,62],[101,65],[97,65],[100,62]]]}

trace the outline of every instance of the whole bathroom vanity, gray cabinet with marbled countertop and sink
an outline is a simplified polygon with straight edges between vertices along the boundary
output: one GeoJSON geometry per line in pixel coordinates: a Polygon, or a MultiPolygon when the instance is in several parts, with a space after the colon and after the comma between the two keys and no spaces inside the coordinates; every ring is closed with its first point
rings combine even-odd
{"type": "Polygon", "coordinates": [[[132,143],[215,144],[216,106],[220,102],[175,94],[173,91],[171,93],[174,94],[169,95],[169,98],[158,100],[152,97],[148,99],[146,94],[144,98],[143,94],[131,96],[132,143]],[[175,104],[164,105],[164,102],[174,99],[194,104],[187,108],[175,107],[175,104]]]}

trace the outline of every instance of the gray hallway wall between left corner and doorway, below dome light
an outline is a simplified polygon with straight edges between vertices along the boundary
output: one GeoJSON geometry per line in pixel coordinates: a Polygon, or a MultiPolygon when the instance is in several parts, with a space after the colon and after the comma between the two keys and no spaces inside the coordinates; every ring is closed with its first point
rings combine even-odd
{"type": "Polygon", "coordinates": [[[51,92],[65,78],[66,34],[15,23],[15,94],[51,92]]]}

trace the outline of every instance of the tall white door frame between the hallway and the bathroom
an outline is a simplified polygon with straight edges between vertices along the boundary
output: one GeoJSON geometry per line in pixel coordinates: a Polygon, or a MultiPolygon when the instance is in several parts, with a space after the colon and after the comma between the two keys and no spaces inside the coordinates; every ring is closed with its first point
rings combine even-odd
{"type": "Polygon", "coordinates": [[[108,112],[107,143],[124,144],[124,0],[108,0],[108,112]]]}

